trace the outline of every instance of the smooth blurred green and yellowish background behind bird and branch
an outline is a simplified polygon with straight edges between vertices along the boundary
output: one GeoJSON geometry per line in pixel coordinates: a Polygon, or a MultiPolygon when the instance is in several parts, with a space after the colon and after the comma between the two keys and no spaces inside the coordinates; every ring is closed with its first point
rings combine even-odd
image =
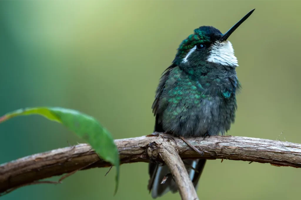
{"type": "MultiPolygon", "coordinates": [[[[229,40],[243,90],[229,135],[301,143],[301,1],[0,1],[0,115],[61,106],[95,116],[115,139],[152,132],[160,74],[180,42],[201,25],[222,32],[251,9],[229,40]]],[[[39,116],[0,124],[0,163],[83,142],[39,116]]],[[[81,171],[60,185],[20,188],[13,199],[151,199],[147,164],[81,171]]],[[[54,177],[50,180],[58,180],[54,177]]],[[[298,199],[301,171],[210,160],[200,199],[298,199]]],[[[180,199],[178,193],[161,199],[180,199]]]]}

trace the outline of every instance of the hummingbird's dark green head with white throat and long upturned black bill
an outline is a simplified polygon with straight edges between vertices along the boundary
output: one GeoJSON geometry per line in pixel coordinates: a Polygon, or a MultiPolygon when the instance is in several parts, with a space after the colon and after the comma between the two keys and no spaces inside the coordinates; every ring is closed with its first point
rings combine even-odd
{"type": "Polygon", "coordinates": [[[182,41],[173,61],[179,66],[194,67],[200,64],[222,64],[236,67],[237,58],[228,37],[242,24],[254,11],[240,19],[225,34],[212,26],[201,26],[194,29],[194,34],[182,41]]]}

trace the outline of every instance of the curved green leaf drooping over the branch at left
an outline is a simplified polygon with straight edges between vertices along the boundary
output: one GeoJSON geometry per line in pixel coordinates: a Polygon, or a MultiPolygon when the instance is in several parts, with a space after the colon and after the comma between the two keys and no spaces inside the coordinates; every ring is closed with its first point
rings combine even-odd
{"type": "Polygon", "coordinates": [[[21,115],[42,115],[45,118],[64,124],[67,128],[85,139],[103,160],[116,166],[116,187],[119,180],[119,154],[110,132],[93,117],[76,110],[59,107],[37,107],[19,109],[0,117],[0,123],[21,115]]]}

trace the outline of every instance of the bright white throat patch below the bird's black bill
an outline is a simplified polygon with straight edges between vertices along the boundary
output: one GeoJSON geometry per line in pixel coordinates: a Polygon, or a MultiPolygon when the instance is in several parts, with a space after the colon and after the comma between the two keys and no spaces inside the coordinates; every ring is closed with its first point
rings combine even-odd
{"type": "Polygon", "coordinates": [[[238,66],[237,58],[230,41],[215,42],[210,50],[209,62],[215,62],[233,67],[238,66]]]}

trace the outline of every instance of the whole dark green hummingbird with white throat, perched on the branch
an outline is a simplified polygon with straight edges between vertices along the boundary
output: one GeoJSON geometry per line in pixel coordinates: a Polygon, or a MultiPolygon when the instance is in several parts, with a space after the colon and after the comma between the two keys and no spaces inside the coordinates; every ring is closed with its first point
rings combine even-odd
{"type": "MultiPolygon", "coordinates": [[[[152,105],[154,132],[177,137],[225,135],[234,123],[240,89],[236,74],[237,58],[228,37],[254,11],[240,19],[225,34],[212,26],[194,29],[180,44],[172,64],[163,72],[152,105]]],[[[197,189],[205,159],[185,160],[189,177],[197,189]]],[[[166,165],[149,163],[148,190],[152,198],[177,186],[166,165]],[[161,181],[163,184],[161,184],[161,181]]]]}

